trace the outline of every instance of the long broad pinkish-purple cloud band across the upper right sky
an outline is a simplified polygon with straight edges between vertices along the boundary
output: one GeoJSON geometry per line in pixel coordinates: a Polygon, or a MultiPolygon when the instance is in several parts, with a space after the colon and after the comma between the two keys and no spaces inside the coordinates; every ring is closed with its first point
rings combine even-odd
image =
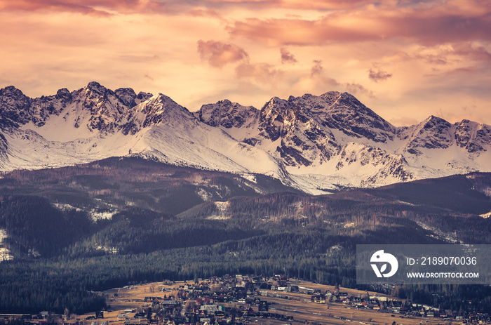
{"type": "Polygon", "coordinates": [[[392,1],[333,11],[318,19],[248,18],[229,26],[233,36],[268,46],[322,45],[405,39],[434,45],[469,40],[491,41],[491,6],[478,0],[448,0],[397,6],[392,1]]]}

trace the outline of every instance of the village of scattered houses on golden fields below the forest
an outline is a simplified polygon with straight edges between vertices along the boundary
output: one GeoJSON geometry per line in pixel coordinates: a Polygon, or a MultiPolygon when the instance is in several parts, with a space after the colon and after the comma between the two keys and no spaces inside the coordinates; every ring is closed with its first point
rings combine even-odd
{"type": "MultiPolygon", "coordinates": [[[[382,293],[316,284],[286,276],[224,276],[163,281],[100,293],[107,310],[75,315],[1,317],[5,323],[149,324],[491,324],[489,314],[417,305],[382,293]]],[[[1,321],[1,320],[0,320],[1,321]]]]}

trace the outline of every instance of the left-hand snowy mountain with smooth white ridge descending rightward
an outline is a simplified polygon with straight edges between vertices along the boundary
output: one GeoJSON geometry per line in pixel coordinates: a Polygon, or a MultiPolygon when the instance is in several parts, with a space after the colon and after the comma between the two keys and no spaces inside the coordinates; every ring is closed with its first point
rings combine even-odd
{"type": "Polygon", "coordinates": [[[127,107],[116,93],[90,83],[71,98],[64,105],[53,100],[57,114],[42,124],[30,120],[19,128],[2,128],[8,143],[4,171],[140,155],[170,164],[283,176],[267,152],[202,123],[165,95],[127,107]]]}

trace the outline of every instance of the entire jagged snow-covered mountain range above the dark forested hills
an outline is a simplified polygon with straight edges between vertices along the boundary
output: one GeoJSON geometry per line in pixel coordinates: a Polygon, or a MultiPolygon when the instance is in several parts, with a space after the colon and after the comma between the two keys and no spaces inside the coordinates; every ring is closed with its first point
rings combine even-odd
{"type": "Polygon", "coordinates": [[[29,98],[0,89],[0,170],[143,157],[175,166],[263,174],[310,194],[491,171],[491,126],[429,117],[396,127],[349,93],[229,100],[197,112],[161,93],[76,91],[29,98]]]}

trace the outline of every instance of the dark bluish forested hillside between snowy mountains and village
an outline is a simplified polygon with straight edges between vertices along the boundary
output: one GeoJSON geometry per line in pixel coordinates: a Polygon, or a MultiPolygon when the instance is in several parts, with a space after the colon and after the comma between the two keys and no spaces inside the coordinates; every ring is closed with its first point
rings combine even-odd
{"type": "MultiPolygon", "coordinates": [[[[227,273],[353,287],[356,244],[490,244],[480,216],[490,185],[474,173],[311,196],[266,176],[140,159],[7,173],[0,245],[14,259],[0,263],[0,312],[87,312],[105,306],[94,291],[227,273]]],[[[458,309],[470,292],[472,307],[489,311],[485,287],[394,293],[458,309]]]]}

